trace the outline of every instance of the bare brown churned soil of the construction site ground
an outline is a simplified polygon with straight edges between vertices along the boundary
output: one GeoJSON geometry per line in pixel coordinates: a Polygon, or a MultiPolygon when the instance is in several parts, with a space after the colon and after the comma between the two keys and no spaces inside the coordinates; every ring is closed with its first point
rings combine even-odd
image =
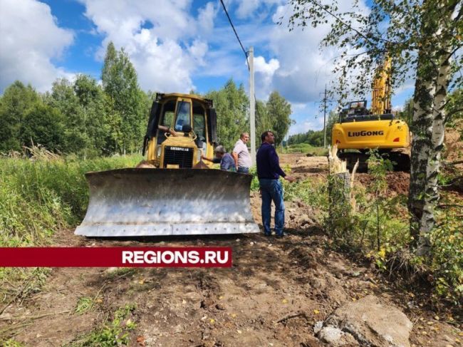
{"type": "MultiPolygon", "coordinates": [[[[328,174],[326,157],[281,155],[281,162],[299,180],[328,174]]],[[[390,194],[406,194],[408,178],[405,172],[388,175],[390,194]]],[[[371,177],[359,174],[356,180],[368,185],[371,177]]],[[[251,193],[251,205],[261,227],[258,192],[251,193]]],[[[66,346],[112,318],[121,306],[135,304],[126,318],[136,324],[128,346],[328,346],[315,337],[316,322],[373,294],[413,323],[411,346],[461,346],[462,327],[430,306],[429,292],[412,294],[367,261],[331,250],[311,207],[287,202],[286,226],[283,239],[263,234],[86,239],[61,230],[54,237],[56,246],[231,247],[233,266],[51,269],[41,291],[11,304],[0,325],[16,329],[15,340],[26,346],[66,346]],[[94,299],[93,309],[76,314],[84,296],[94,299]]]]}

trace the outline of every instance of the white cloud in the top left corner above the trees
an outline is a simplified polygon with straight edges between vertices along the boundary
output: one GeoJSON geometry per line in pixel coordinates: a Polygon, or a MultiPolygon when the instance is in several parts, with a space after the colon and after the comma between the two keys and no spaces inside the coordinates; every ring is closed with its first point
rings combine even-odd
{"type": "Polygon", "coordinates": [[[0,92],[16,80],[44,91],[58,77],[72,78],[51,62],[72,43],[73,32],[58,26],[47,4],[0,0],[0,92]]]}

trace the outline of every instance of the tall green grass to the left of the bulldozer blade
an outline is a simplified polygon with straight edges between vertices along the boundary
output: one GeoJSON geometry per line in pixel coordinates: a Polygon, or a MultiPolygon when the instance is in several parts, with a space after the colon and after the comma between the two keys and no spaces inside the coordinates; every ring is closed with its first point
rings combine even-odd
{"type": "Polygon", "coordinates": [[[74,227],[85,214],[84,174],[133,167],[140,156],[95,160],[0,158],[0,247],[48,243],[61,228],[74,227]]]}

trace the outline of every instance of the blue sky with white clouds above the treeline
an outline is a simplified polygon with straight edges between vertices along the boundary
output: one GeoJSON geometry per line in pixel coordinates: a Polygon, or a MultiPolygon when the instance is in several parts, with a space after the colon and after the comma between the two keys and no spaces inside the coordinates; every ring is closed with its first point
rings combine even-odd
{"type": "MultiPolygon", "coordinates": [[[[282,0],[224,2],[244,47],[254,46],[256,97],[278,90],[291,103],[291,134],[323,128],[317,101],[337,55],[318,48],[328,27],[279,26],[291,14],[282,0]]],[[[109,41],[128,52],[144,90],[205,93],[229,78],[248,90],[244,53],[219,1],[0,0],[0,93],[15,80],[45,91],[78,73],[100,79],[109,41]]],[[[393,107],[411,87],[396,90],[393,107]]]]}

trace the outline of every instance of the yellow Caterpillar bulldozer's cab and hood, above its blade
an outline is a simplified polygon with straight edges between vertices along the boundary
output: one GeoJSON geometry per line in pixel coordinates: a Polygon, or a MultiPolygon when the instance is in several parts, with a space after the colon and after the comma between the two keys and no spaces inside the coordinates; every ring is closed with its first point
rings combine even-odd
{"type": "Polygon", "coordinates": [[[216,143],[212,100],[177,93],[156,95],[143,146],[148,162],[160,168],[192,168],[201,155],[213,155],[216,143]],[[162,130],[160,125],[173,131],[162,130]]]}

